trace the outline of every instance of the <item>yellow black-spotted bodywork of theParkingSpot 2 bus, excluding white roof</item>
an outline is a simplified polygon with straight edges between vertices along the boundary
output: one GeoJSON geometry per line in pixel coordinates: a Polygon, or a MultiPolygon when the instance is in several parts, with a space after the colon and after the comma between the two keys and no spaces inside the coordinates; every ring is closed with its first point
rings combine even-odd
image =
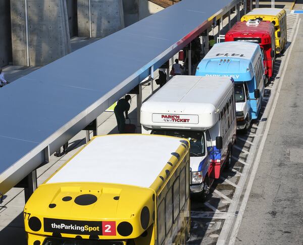
{"type": "MultiPolygon", "coordinates": [[[[96,137],[105,136],[95,136],[91,141],[96,137]]],[[[134,239],[135,245],[156,244],[159,195],[168,189],[169,180],[180,173],[180,164],[184,165],[185,159],[189,164],[189,141],[182,141],[168,162],[163,163],[162,171],[149,188],[101,182],[47,183],[68,162],[77,157],[90,143],[88,142],[45,180],[26,203],[23,217],[28,245],[34,244],[35,241],[42,244],[46,237],[80,238],[79,236],[83,239],[94,237],[118,240],[125,245],[128,239],[134,239]],[[83,230],[75,224],[84,227],[83,230]],[[112,225],[111,235],[105,233],[105,226],[108,224],[112,225]]],[[[178,233],[174,236],[174,240],[179,244],[183,244],[186,239],[183,233],[190,228],[189,209],[188,199],[179,215],[179,219],[184,220],[179,222],[178,233]],[[179,242],[180,240],[182,242],[179,242]]]]}

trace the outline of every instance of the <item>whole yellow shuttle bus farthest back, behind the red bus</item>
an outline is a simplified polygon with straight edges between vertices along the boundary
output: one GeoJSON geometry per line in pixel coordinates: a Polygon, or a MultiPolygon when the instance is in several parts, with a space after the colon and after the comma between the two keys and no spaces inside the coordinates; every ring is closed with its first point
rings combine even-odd
{"type": "Polygon", "coordinates": [[[280,54],[284,51],[287,42],[286,11],[284,9],[253,9],[246,15],[242,16],[241,21],[248,21],[250,19],[259,19],[274,23],[276,54],[280,54]]]}

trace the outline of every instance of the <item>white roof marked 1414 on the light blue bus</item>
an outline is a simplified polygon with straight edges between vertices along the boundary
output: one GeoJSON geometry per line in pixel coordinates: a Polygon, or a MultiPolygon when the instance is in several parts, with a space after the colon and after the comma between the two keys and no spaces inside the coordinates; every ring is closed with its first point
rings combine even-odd
{"type": "Polygon", "coordinates": [[[233,58],[251,60],[258,47],[259,44],[254,42],[220,42],[215,44],[203,59],[233,58]],[[240,55],[243,56],[240,57],[240,55]]]}

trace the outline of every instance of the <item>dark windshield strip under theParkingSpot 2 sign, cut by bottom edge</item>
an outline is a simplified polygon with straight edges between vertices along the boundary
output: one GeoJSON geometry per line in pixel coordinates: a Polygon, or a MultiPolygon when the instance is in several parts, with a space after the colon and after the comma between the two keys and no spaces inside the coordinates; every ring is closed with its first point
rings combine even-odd
{"type": "Polygon", "coordinates": [[[122,241],[47,237],[43,245],[123,245],[122,241]]]}

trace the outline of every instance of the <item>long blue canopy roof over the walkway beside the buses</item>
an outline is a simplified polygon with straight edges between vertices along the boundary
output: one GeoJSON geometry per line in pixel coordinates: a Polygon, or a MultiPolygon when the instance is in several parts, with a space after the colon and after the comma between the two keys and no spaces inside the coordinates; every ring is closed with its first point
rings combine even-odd
{"type": "Polygon", "coordinates": [[[0,89],[0,192],[237,3],[183,0],[0,89]]]}

